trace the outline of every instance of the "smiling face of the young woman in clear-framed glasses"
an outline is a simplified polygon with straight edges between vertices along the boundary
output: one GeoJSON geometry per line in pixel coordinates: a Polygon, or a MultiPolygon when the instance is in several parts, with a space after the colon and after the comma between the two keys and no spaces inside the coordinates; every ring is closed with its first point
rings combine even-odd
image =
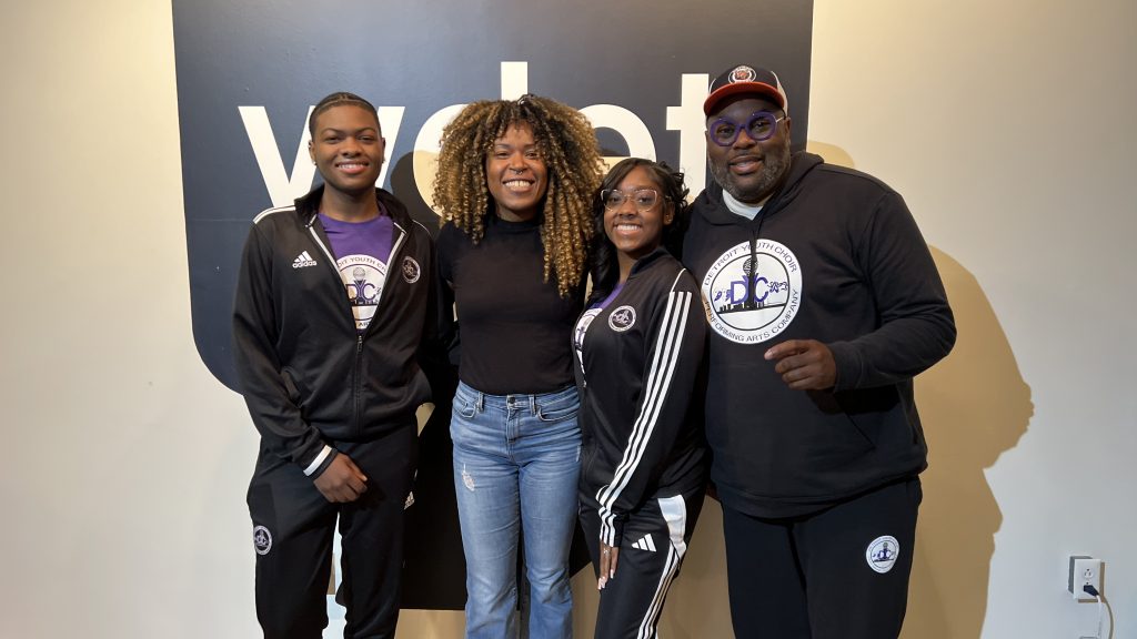
{"type": "Polygon", "coordinates": [[[604,233],[616,247],[621,263],[634,262],[663,242],[663,227],[671,224],[675,207],[664,197],[663,185],[642,166],[631,169],[615,188],[624,193],[624,201],[615,209],[604,210],[604,233]],[[655,205],[647,210],[636,206],[634,193],[641,189],[657,193],[655,205]]]}

